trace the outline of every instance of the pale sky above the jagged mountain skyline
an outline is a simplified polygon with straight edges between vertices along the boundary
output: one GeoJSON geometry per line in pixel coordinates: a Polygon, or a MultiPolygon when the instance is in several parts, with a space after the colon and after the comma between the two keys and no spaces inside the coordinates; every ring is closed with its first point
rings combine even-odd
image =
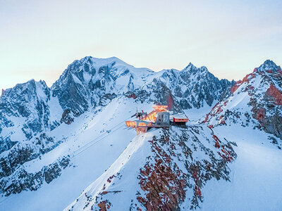
{"type": "Polygon", "coordinates": [[[85,56],[241,79],[266,59],[282,65],[282,1],[0,0],[0,89],[51,86],[85,56]]]}

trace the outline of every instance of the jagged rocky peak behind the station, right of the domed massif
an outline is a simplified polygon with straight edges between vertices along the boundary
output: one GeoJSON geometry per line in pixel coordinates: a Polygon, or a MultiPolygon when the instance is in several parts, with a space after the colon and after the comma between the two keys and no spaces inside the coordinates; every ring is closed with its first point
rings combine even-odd
{"type": "Polygon", "coordinates": [[[206,67],[196,68],[192,63],[181,71],[165,70],[159,79],[171,89],[183,109],[212,106],[234,83],[219,80],[206,67]]]}

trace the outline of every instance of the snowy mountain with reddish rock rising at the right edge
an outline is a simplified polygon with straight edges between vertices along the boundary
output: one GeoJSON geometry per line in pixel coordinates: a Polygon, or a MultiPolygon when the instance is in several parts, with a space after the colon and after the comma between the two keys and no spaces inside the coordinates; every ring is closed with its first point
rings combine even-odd
{"type": "Polygon", "coordinates": [[[281,147],[282,139],[282,71],[266,60],[231,88],[231,96],[216,103],[203,122],[216,125],[241,124],[263,129],[273,143],[281,147]],[[275,137],[276,136],[276,137],[275,137]]]}

